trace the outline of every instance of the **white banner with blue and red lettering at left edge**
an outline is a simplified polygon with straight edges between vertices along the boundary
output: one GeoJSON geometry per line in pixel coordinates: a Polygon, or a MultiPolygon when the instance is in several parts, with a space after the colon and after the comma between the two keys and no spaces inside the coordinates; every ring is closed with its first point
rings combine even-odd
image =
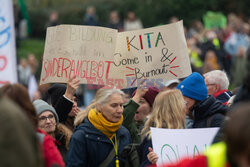
{"type": "Polygon", "coordinates": [[[0,86],[17,82],[12,0],[0,0],[0,86]]]}

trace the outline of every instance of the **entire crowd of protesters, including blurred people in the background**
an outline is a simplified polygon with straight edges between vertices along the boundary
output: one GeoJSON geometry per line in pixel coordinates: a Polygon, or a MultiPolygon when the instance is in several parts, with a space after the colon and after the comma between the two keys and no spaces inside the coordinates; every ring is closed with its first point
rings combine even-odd
{"type": "MultiPolygon", "coordinates": [[[[250,166],[250,27],[234,14],[227,21],[224,29],[209,30],[193,21],[185,31],[193,73],[161,88],[141,83],[136,90],[95,92],[75,76],[66,85],[38,87],[34,55],[20,60],[19,83],[0,88],[0,166],[155,166],[150,127],[220,128],[206,154],[167,167],[250,166]],[[79,95],[87,93],[94,98],[79,108],[79,95]]],[[[94,7],[82,24],[99,25],[94,7]]],[[[132,11],[124,23],[112,11],[107,26],[143,28],[132,11]]]]}

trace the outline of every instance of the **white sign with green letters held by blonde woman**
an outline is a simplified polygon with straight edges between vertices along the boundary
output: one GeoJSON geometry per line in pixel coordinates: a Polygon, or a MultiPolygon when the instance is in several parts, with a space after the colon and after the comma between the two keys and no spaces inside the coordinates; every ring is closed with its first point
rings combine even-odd
{"type": "Polygon", "coordinates": [[[150,128],[157,164],[174,163],[185,157],[204,153],[219,128],[161,129],[150,128]]]}

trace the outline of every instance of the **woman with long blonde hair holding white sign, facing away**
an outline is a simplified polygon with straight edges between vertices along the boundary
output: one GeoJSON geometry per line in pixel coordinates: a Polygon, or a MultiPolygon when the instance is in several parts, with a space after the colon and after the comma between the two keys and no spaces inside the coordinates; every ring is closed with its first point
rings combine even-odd
{"type": "Polygon", "coordinates": [[[185,108],[185,101],[179,90],[168,90],[158,94],[153,104],[152,113],[142,129],[141,166],[155,164],[158,160],[157,155],[152,150],[150,127],[185,128],[185,108]]]}

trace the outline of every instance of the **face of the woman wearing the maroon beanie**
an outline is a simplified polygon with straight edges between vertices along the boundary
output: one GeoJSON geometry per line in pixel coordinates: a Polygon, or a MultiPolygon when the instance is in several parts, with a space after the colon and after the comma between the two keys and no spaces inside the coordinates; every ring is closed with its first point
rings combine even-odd
{"type": "Polygon", "coordinates": [[[140,107],[135,113],[135,121],[144,121],[147,115],[151,112],[149,103],[142,97],[139,101],[140,107]]]}

